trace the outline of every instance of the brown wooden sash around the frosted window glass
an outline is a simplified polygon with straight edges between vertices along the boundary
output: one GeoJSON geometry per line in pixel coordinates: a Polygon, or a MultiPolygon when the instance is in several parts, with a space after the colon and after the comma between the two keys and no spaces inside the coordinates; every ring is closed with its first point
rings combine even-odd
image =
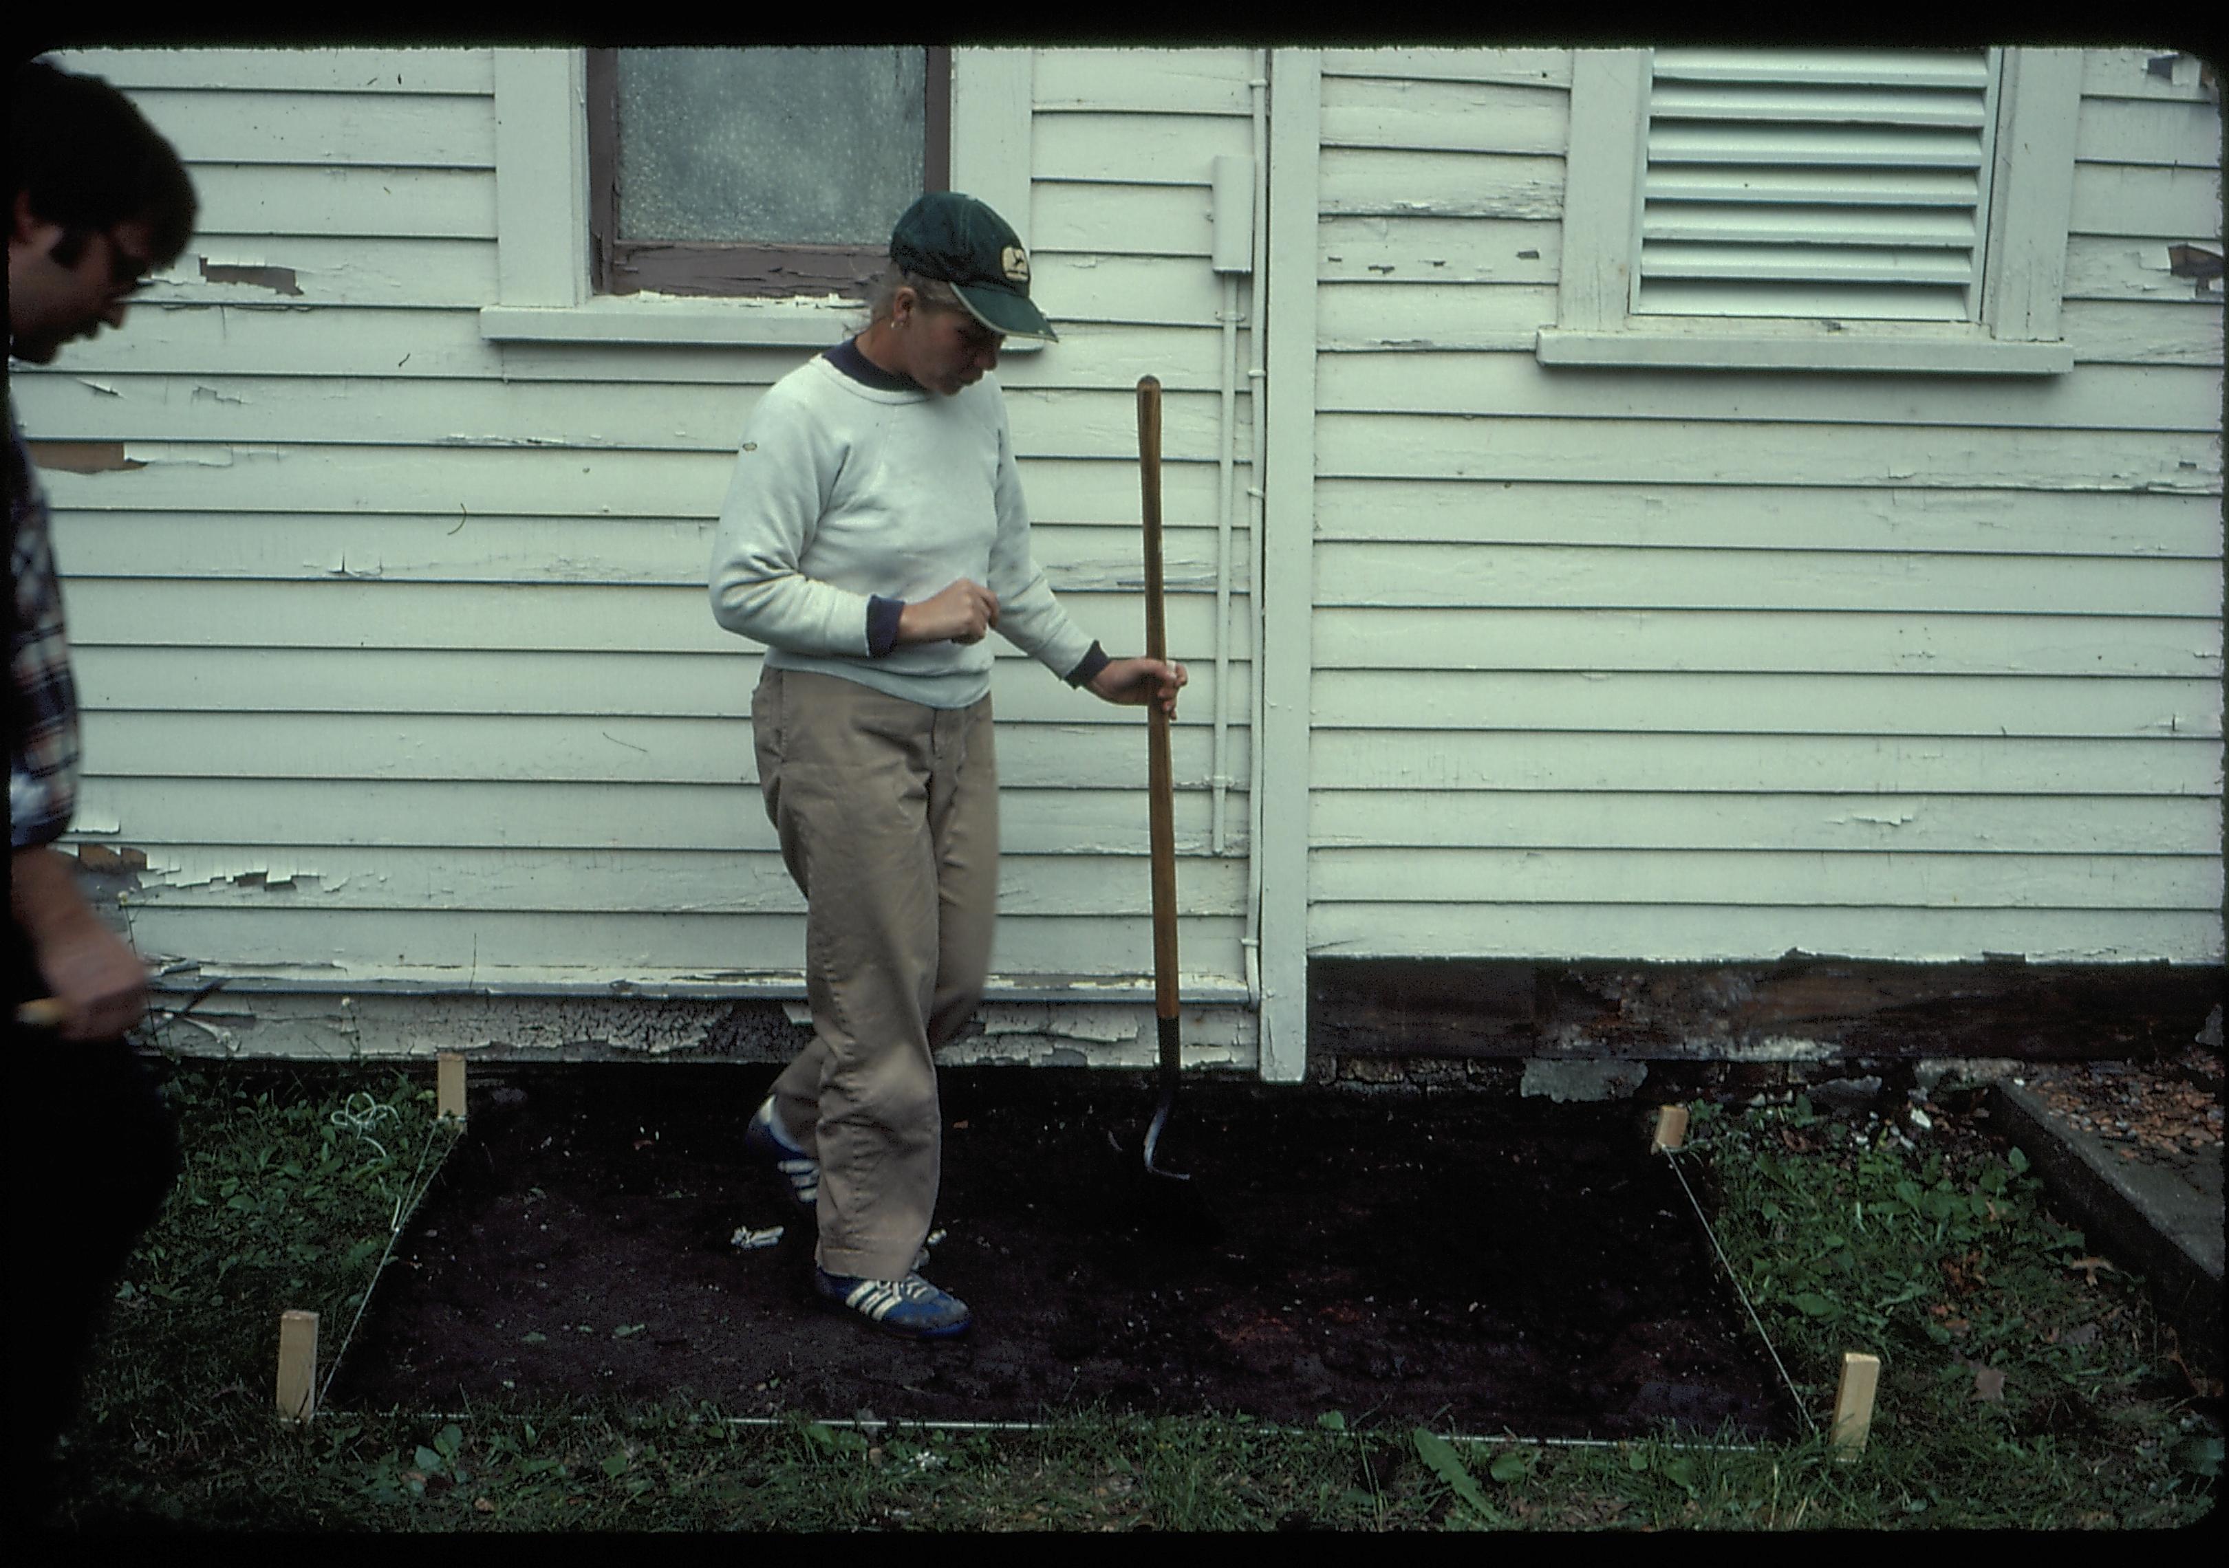
{"type": "MultiPolygon", "coordinates": [[[[952,49],[927,49],[923,192],[952,183],[952,49]]],[[[620,238],[617,49],[588,51],[588,243],[597,294],[867,298],[889,265],[885,245],[751,245],[620,238]]]]}

